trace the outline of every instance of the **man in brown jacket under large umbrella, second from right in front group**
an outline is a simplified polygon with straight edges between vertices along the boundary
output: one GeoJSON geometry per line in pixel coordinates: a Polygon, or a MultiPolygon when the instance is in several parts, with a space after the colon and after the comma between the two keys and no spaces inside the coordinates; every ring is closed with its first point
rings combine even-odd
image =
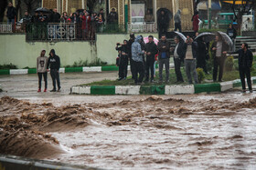
{"type": "Polygon", "coordinates": [[[221,35],[216,35],[216,41],[211,47],[211,52],[213,55],[213,81],[216,82],[218,68],[219,68],[219,82],[222,82],[222,75],[224,70],[224,64],[226,60],[227,51],[229,50],[229,45],[222,40],[221,35]]]}

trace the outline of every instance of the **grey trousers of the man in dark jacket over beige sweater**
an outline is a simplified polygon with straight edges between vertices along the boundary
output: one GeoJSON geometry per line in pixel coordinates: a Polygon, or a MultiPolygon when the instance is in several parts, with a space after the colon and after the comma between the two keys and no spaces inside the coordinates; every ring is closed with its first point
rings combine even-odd
{"type": "Polygon", "coordinates": [[[196,70],[196,60],[186,60],[185,59],[185,67],[186,67],[186,75],[189,84],[193,84],[191,74],[194,77],[195,84],[198,84],[197,70],[196,70]]]}

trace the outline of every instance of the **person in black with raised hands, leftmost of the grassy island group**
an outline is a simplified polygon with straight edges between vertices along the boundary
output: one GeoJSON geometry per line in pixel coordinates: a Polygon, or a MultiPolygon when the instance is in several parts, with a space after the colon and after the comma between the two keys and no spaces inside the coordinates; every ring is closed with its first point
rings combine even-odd
{"type": "Polygon", "coordinates": [[[127,77],[127,66],[128,66],[128,55],[129,55],[129,49],[128,49],[128,41],[123,40],[123,45],[120,43],[116,44],[115,49],[119,53],[119,79],[118,80],[125,80],[127,77]]]}

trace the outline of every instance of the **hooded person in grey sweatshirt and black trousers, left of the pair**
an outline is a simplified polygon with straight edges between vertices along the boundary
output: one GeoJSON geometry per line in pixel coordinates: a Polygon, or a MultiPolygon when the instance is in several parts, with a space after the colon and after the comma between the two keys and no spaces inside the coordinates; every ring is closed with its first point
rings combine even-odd
{"type": "Polygon", "coordinates": [[[42,76],[44,76],[45,90],[48,89],[48,57],[45,55],[46,50],[42,50],[40,56],[37,57],[37,75],[38,75],[38,91],[41,92],[42,76]]]}

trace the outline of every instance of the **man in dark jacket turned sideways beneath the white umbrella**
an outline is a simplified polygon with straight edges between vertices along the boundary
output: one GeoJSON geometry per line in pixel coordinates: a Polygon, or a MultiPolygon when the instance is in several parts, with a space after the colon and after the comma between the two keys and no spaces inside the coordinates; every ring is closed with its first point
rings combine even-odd
{"type": "Polygon", "coordinates": [[[184,42],[179,39],[178,36],[175,37],[176,47],[172,48],[174,52],[174,62],[175,62],[175,70],[176,70],[176,83],[183,83],[183,77],[181,75],[180,66],[181,62],[184,62],[185,51],[183,49],[184,42]]]}

